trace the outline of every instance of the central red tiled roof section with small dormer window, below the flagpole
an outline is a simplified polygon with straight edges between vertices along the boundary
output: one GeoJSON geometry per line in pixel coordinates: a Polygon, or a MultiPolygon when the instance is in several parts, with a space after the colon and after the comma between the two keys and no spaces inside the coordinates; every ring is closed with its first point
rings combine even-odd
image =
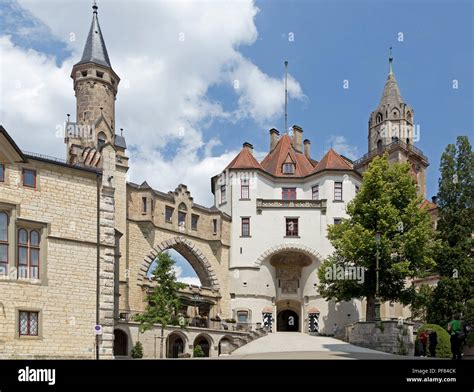
{"type": "Polygon", "coordinates": [[[288,134],[284,134],[277,145],[263,159],[261,166],[266,172],[276,177],[303,177],[310,174],[314,167],[306,156],[294,149],[288,134]],[[283,163],[295,163],[294,174],[283,174],[283,163]]]}

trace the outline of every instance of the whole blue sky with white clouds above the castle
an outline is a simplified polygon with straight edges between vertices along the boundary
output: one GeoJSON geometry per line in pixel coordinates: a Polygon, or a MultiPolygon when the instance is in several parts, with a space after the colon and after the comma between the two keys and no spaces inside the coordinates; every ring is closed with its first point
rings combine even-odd
{"type": "MultiPolygon", "coordinates": [[[[466,0],[100,0],[99,22],[121,77],[117,129],[129,180],[179,183],[212,205],[210,178],[241,149],[268,151],[268,130],[300,125],[321,159],[367,152],[367,121],[388,73],[414,109],[436,194],[443,150],[473,136],[474,2],[466,0]],[[345,88],[348,87],[348,88],[345,88]]],[[[92,1],[0,0],[0,124],[20,148],[64,157],[58,129],[75,118],[70,79],[92,1]]],[[[185,274],[185,276],[188,276],[185,274]]]]}

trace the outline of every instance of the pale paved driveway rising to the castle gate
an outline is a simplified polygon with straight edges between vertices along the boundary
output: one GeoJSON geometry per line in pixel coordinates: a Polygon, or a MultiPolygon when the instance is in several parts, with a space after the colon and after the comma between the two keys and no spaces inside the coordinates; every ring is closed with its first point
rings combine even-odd
{"type": "MultiPolygon", "coordinates": [[[[222,358],[222,357],[221,357],[222,358]]],[[[276,332],[235,350],[229,359],[406,359],[326,336],[276,332]]]]}

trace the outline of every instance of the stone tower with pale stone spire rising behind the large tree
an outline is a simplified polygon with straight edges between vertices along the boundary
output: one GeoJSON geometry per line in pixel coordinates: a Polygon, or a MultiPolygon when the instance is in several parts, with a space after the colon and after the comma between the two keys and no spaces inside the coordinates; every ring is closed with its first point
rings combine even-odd
{"type": "Polygon", "coordinates": [[[363,172],[375,156],[387,152],[390,162],[410,164],[418,193],[424,196],[428,158],[414,145],[419,140],[420,133],[413,121],[413,108],[403,100],[395,79],[392,48],[382,98],[369,116],[368,128],[368,152],[354,161],[354,168],[363,172]]]}

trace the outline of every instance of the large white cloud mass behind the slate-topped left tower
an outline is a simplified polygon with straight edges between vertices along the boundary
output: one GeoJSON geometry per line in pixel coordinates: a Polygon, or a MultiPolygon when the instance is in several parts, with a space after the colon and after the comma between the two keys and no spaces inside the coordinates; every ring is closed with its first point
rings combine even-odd
{"type": "MultiPolygon", "coordinates": [[[[22,148],[63,157],[65,147],[55,128],[66,113],[75,118],[69,75],[80,59],[91,9],[83,2],[28,0],[21,5],[68,42],[73,57],[57,67],[55,59],[1,38],[0,122],[22,148]]],[[[266,124],[282,114],[283,80],[266,75],[238,51],[239,45],[257,39],[257,13],[252,1],[100,2],[109,57],[122,78],[116,123],[131,147],[131,181],[147,180],[163,191],[185,183],[196,202],[209,205],[210,177],[235,151],[215,156],[213,148],[227,138],[225,127],[210,137],[204,136],[206,129],[216,119],[266,124]],[[208,97],[208,89],[235,80],[234,108],[226,112],[208,97]],[[177,146],[172,158],[164,153],[170,143],[177,146]]],[[[289,93],[304,98],[292,77],[289,93]]]]}

